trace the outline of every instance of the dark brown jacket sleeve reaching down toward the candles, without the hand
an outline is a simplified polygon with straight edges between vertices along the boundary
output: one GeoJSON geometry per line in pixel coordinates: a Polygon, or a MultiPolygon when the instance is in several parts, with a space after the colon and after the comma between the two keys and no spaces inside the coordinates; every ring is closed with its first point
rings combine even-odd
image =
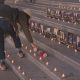
{"type": "Polygon", "coordinates": [[[28,41],[30,43],[33,43],[33,39],[32,39],[30,30],[29,30],[29,19],[30,19],[30,16],[28,14],[26,14],[23,11],[19,11],[17,21],[21,25],[22,30],[23,30],[25,36],[27,37],[28,41]]]}

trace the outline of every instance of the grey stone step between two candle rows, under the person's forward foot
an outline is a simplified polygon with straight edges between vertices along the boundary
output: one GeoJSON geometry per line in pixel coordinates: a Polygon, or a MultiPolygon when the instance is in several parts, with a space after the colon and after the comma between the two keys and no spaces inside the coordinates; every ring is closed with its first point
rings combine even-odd
{"type": "Polygon", "coordinates": [[[6,45],[8,45],[6,51],[11,57],[9,58],[9,61],[11,62],[12,60],[14,60],[13,65],[18,70],[18,75],[21,77],[21,80],[60,80],[48,69],[45,69],[45,67],[41,65],[41,63],[28,55],[29,53],[27,51],[23,50],[26,53],[26,57],[24,59],[16,56],[17,51],[12,40],[10,40],[10,38],[7,38],[6,42],[6,45]],[[19,70],[20,67],[21,70],[19,70]],[[52,74],[52,76],[50,74],[52,74]]]}

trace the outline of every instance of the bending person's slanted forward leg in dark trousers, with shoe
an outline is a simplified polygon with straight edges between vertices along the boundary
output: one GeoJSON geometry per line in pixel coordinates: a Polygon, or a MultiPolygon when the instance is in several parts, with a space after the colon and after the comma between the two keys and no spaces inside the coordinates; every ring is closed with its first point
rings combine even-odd
{"type": "Polygon", "coordinates": [[[19,36],[16,35],[16,32],[13,29],[13,26],[5,19],[1,20],[0,25],[2,25],[1,26],[2,30],[6,33],[9,33],[11,35],[11,37],[13,38],[15,47],[19,50],[19,54],[20,54],[19,56],[24,57],[23,52],[21,50],[20,38],[19,38],[19,36]]]}

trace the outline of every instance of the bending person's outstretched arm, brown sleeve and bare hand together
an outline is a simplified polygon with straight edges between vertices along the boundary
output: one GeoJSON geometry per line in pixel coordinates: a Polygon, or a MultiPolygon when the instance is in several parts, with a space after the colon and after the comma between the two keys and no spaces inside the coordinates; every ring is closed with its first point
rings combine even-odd
{"type": "Polygon", "coordinates": [[[20,12],[18,18],[19,18],[19,24],[21,25],[21,28],[22,28],[27,40],[30,42],[34,51],[36,51],[37,46],[36,46],[36,43],[33,41],[32,35],[30,33],[30,30],[29,30],[30,16],[26,15],[26,13],[24,13],[24,12],[20,12]]]}

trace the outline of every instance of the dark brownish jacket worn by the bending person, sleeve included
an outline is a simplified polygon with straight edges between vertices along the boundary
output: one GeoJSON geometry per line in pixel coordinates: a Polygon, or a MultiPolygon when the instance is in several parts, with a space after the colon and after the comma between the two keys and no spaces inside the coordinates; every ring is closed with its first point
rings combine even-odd
{"type": "Polygon", "coordinates": [[[33,43],[33,39],[29,31],[29,15],[27,15],[23,11],[18,10],[17,8],[12,8],[8,5],[0,4],[0,16],[10,21],[15,30],[18,29],[17,23],[19,23],[28,41],[30,43],[33,43]]]}

